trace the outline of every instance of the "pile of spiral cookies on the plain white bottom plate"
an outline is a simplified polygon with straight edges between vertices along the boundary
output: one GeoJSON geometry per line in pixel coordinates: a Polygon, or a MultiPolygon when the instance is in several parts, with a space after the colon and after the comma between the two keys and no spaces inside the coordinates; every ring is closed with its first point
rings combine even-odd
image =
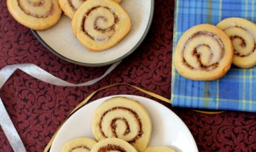
{"type": "Polygon", "coordinates": [[[113,97],[95,111],[92,122],[95,140],[75,138],[64,144],[69,151],[174,151],[167,146],[147,147],[152,133],[152,120],[139,102],[125,97],[113,97]]]}

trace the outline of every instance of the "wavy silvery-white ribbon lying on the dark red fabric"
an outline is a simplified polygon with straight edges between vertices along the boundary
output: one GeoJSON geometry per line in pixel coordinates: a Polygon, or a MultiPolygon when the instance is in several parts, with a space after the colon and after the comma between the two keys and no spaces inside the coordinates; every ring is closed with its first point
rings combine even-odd
{"type": "MultiPolygon", "coordinates": [[[[107,71],[96,79],[92,79],[89,82],[84,82],[82,84],[72,84],[69,82],[65,82],[64,80],[51,75],[46,72],[42,68],[35,66],[34,64],[14,64],[10,66],[6,66],[0,70],[0,88],[2,88],[3,84],[9,79],[9,77],[15,73],[17,69],[22,70],[24,73],[35,77],[42,82],[46,82],[48,84],[54,84],[56,86],[89,86],[91,84],[95,84],[99,82],[100,79],[106,77],[111,71],[120,64],[121,61],[118,61],[116,64],[107,69],[107,71]]],[[[10,146],[12,146],[13,151],[15,152],[26,152],[25,146],[17,133],[15,126],[12,124],[12,120],[10,119],[6,108],[3,105],[3,102],[0,97],[0,126],[3,129],[3,132],[6,134],[8,141],[10,142],[10,146]]]]}

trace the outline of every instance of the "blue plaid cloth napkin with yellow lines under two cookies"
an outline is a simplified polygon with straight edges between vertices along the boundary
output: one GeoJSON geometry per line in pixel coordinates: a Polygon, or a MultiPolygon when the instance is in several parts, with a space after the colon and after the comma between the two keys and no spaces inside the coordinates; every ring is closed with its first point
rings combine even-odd
{"type": "MultiPolygon", "coordinates": [[[[196,24],[216,25],[228,17],[256,21],[256,0],[176,0],[175,7],[174,51],[183,32],[196,24]]],[[[185,79],[172,66],[171,100],[173,106],[256,112],[256,66],[232,66],[226,76],[210,82],[185,79]]]]}

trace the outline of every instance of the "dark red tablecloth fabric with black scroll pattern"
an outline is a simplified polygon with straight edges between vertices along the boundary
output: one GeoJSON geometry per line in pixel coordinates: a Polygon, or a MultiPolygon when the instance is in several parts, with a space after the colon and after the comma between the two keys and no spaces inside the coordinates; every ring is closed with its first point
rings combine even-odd
{"type": "MultiPolygon", "coordinates": [[[[21,71],[12,75],[1,88],[0,96],[26,150],[43,151],[68,113],[102,86],[125,82],[170,98],[173,24],[174,1],[155,1],[152,27],[143,44],[111,74],[92,86],[53,86],[21,71]]],[[[0,68],[33,63],[73,83],[99,77],[108,68],[77,66],[56,57],[37,41],[28,28],[10,16],[6,1],[0,2],[0,49],[0,68]]],[[[117,94],[149,97],[130,86],[115,86],[100,91],[93,99],[117,94]]],[[[255,113],[226,111],[219,115],[206,115],[161,103],[187,124],[199,151],[256,151],[255,113]]],[[[168,121],[168,117],[165,119],[168,121]]],[[[0,151],[12,151],[1,127],[0,151]]]]}

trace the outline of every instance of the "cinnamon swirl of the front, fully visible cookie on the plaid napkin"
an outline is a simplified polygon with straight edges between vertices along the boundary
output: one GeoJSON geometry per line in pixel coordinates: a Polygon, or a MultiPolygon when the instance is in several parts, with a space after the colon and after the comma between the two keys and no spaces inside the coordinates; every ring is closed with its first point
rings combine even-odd
{"type": "Polygon", "coordinates": [[[208,32],[208,31],[199,31],[199,32],[194,33],[188,39],[188,41],[185,42],[185,45],[183,47],[182,52],[183,52],[183,64],[185,66],[187,66],[191,70],[199,68],[200,70],[210,71],[210,70],[214,70],[215,68],[217,68],[219,66],[219,61],[222,59],[222,57],[225,53],[225,49],[224,49],[224,46],[223,46],[223,42],[221,41],[221,39],[217,35],[215,35],[212,32],[208,32]],[[187,47],[188,44],[190,44],[190,42],[194,41],[194,39],[196,39],[198,37],[201,37],[201,36],[211,37],[212,39],[214,39],[214,41],[217,41],[217,44],[219,45],[219,48],[221,49],[221,53],[220,53],[219,59],[217,61],[216,61],[216,59],[214,59],[214,61],[212,61],[212,59],[214,58],[215,51],[218,51],[218,50],[212,50],[212,48],[210,47],[209,44],[201,44],[201,42],[199,42],[199,44],[194,48],[188,48],[187,47]],[[202,61],[203,60],[203,52],[198,51],[200,48],[204,48],[204,50],[205,49],[210,50],[210,55],[208,55],[208,59],[206,59],[206,60],[208,60],[208,62],[210,64],[203,63],[203,61],[202,61]],[[190,65],[188,63],[188,61],[185,59],[184,54],[185,54],[186,50],[188,50],[188,49],[193,49],[190,52],[191,52],[192,57],[194,57],[196,59],[196,63],[198,65],[198,67],[190,65]]]}

